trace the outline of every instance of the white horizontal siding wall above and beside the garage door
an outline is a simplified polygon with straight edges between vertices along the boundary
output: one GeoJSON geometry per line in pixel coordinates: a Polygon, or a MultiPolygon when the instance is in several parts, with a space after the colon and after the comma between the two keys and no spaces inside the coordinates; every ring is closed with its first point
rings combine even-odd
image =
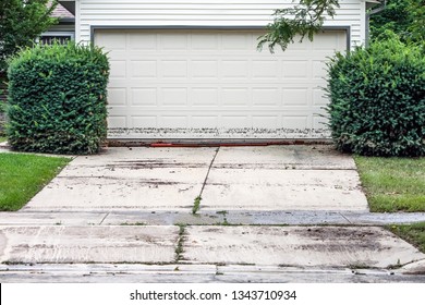
{"type": "MultiPolygon", "coordinates": [[[[211,26],[262,27],[272,21],[276,9],[293,5],[292,0],[76,0],[75,38],[92,41],[96,26],[211,26]]],[[[325,26],[350,27],[350,44],[365,40],[364,0],[340,0],[340,9],[325,26]]]]}

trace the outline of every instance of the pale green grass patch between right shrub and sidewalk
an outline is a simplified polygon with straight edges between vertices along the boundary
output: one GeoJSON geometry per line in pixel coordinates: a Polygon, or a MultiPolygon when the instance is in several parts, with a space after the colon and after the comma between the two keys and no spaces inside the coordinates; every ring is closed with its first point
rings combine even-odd
{"type": "Polygon", "coordinates": [[[371,211],[425,211],[425,158],[354,160],[371,211]]]}

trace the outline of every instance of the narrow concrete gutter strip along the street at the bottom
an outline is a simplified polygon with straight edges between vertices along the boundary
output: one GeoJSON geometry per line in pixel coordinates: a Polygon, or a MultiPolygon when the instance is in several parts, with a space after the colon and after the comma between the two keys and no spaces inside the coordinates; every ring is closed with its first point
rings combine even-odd
{"type": "Polygon", "coordinates": [[[0,265],[2,283],[424,283],[393,270],[215,265],[0,265]]]}

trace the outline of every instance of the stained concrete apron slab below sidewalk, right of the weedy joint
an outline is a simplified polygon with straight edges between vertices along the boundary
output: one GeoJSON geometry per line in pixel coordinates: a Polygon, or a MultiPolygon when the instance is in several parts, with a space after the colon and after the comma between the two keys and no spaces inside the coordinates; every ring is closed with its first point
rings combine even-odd
{"type": "Polygon", "coordinates": [[[192,264],[389,268],[425,259],[375,227],[189,227],[183,261],[192,264]]]}

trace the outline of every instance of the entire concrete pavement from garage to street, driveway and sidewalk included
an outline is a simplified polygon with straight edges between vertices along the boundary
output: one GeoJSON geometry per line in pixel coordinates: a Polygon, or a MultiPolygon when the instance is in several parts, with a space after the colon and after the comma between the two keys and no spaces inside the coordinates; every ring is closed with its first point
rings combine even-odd
{"type": "Polygon", "coordinates": [[[329,146],[110,148],[0,212],[0,281],[425,282],[381,227],[415,221],[371,213],[329,146]]]}

